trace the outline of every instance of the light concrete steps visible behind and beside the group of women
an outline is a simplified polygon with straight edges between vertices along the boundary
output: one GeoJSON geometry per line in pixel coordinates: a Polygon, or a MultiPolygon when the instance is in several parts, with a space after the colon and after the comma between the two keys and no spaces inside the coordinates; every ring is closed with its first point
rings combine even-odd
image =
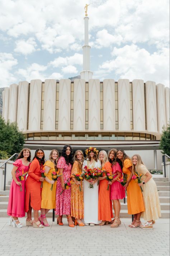
{"type": "MultiPolygon", "coordinates": [[[[157,185],[157,190],[159,193],[160,205],[161,205],[161,218],[169,218],[170,217],[170,182],[168,178],[163,177],[154,177],[154,180],[157,185]]],[[[9,189],[10,183],[6,185],[6,191],[0,191],[0,217],[7,217],[7,207],[8,207],[8,198],[9,198],[9,189]]],[[[121,201],[121,218],[127,218],[130,215],[127,214],[127,200],[126,203],[123,203],[123,199],[121,201]]],[[[52,217],[52,210],[47,213],[47,217],[52,217]]]]}

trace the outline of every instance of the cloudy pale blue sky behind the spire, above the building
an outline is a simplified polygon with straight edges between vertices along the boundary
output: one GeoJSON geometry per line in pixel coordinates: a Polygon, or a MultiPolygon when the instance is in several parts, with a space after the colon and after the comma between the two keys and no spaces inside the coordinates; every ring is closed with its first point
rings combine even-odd
{"type": "MultiPolygon", "coordinates": [[[[169,87],[169,0],[91,0],[91,71],[169,87]]],[[[82,71],[88,0],[0,0],[0,87],[82,71]]]]}

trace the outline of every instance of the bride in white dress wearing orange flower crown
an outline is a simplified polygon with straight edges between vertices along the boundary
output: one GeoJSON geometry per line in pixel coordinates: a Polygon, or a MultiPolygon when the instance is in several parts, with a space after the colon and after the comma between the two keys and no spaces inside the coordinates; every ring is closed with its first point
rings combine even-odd
{"type": "MultiPolygon", "coordinates": [[[[87,165],[88,168],[94,169],[100,167],[100,161],[98,160],[98,150],[94,147],[89,147],[85,150],[86,160],[83,162],[83,167],[87,165]]],[[[83,181],[84,190],[84,221],[86,226],[94,226],[99,224],[98,220],[98,193],[99,186],[97,185],[97,179],[83,181]],[[94,188],[89,188],[89,183],[93,184],[94,188]]]]}

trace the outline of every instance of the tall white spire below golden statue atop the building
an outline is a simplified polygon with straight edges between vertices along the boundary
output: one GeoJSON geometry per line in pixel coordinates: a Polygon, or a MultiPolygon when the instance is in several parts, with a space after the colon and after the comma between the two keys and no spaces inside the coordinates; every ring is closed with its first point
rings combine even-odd
{"type": "Polygon", "coordinates": [[[83,71],[80,72],[81,79],[89,81],[93,72],[90,71],[90,46],[89,46],[89,17],[84,17],[84,46],[83,49],[83,71]]]}

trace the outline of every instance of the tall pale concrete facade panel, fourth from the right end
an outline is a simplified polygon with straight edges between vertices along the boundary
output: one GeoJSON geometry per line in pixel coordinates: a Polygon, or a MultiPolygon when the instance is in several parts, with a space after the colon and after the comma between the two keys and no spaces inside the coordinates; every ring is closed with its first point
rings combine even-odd
{"type": "Polygon", "coordinates": [[[145,132],[145,96],[143,80],[132,81],[133,130],[145,132]]]}

